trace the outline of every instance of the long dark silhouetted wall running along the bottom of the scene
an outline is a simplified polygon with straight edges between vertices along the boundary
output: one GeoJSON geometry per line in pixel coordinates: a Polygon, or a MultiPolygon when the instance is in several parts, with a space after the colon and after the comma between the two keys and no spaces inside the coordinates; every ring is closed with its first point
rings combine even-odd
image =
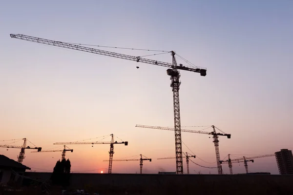
{"type": "MultiPolygon", "coordinates": [[[[27,172],[25,176],[45,181],[51,174],[27,172]]],[[[70,184],[92,192],[127,191],[129,195],[293,194],[293,175],[72,174],[70,184]]]]}

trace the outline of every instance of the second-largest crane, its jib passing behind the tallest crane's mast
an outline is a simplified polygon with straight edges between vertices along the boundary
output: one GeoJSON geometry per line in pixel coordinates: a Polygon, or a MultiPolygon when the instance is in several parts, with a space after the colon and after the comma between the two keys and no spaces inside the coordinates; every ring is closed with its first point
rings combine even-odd
{"type": "MultiPolygon", "coordinates": [[[[173,128],[169,128],[169,127],[156,127],[156,126],[146,126],[146,125],[135,125],[135,127],[174,131],[173,128]]],[[[211,127],[213,129],[212,132],[194,131],[194,130],[188,130],[188,129],[181,129],[181,131],[182,132],[189,132],[189,133],[213,135],[213,143],[214,143],[215,151],[216,151],[216,160],[217,160],[218,174],[219,175],[222,175],[223,174],[223,171],[222,171],[222,167],[221,167],[221,163],[220,163],[220,152],[219,152],[219,139],[218,139],[218,136],[227,136],[227,138],[231,138],[231,134],[226,134],[225,132],[222,132],[220,129],[218,129],[214,125],[212,125],[211,127]],[[218,129],[222,133],[217,133],[215,129],[218,129]]]]}

